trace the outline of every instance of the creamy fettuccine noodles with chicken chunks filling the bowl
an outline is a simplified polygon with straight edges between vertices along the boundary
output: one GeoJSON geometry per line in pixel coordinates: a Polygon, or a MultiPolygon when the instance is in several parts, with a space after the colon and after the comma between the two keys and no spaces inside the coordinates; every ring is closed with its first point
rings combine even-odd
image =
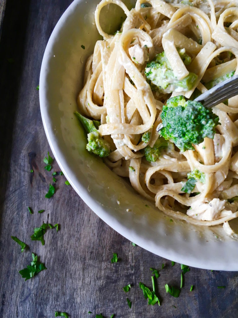
{"type": "Polygon", "coordinates": [[[169,142],[155,162],[146,161],[144,149],[159,137],[156,128],[169,97],[190,98],[205,92],[211,81],[238,74],[237,2],[137,0],[135,9],[128,10],[120,0],[102,0],[95,21],[103,40],[96,42],[86,63],[78,105],[82,114],[101,120],[99,134],[111,149],[105,163],[169,217],[195,225],[223,223],[227,234],[235,235],[228,221],[238,216],[238,95],[213,108],[221,123],[213,140],[205,138],[185,152],[169,142]],[[99,22],[101,9],[110,3],[127,16],[114,35],[105,33],[99,22]],[[178,49],[189,54],[189,65],[178,49]],[[145,67],[163,51],[178,80],[196,74],[191,89],[152,91],[145,67]],[[197,180],[189,195],[182,188],[194,169],[204,180],[197,180]]]}

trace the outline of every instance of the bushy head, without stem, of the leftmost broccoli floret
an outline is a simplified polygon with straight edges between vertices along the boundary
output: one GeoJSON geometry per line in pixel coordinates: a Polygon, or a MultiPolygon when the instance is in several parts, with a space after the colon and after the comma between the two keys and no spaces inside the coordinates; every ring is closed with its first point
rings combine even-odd
{"type": "Polygon", "coordinates": [[[99,157],[106,157],[110,154],[109,143],[102,139],[97,131],[88,134],[86,149],[99,157]]]}

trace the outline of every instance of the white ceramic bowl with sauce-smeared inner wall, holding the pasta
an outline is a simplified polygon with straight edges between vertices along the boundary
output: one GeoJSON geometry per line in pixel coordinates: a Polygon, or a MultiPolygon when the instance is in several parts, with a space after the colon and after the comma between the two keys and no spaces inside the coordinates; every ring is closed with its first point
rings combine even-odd
{"type": "MultiPolygon", "coordinates": [[[[221,227],[170,222],[85,149],[86,137],[73,112],[82,88],[85,61],[100,38],[94,23],[97,3],[98,0],[75,0],[69,6],[51,34],[42,61],[41,114],[59,166],[84,202],[130,241],[178,263],[237,271],[237,242],[225,235],[221,227]]],[[[120,21],[121,14],[116,15],[113,10],[113,20],[120,21]]],[[[104,14],[105,21],[109,21],[106,11],[104,14]]]]}

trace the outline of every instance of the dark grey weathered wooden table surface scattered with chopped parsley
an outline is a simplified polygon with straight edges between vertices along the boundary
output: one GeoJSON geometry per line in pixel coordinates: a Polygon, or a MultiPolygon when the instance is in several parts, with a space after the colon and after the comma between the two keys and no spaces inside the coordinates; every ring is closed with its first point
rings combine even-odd
{"type": "Polygon", "coordinates": [[[238,317],[236,272],[190,268],[180,297],[174,298],[164,285],[180,286],[180,264],[172,267],[170,261],[133,246],[64,184],[64,176],[56,176],[54,197],[45,198],[52,171],[60,169],[56,162],[51,172],[44,169],[50,147],[36,86],[47,41],[70,3],[0,1],[0,318],[50,318],[56,310],[72,318],[100,313],[105,318],[113,313],[118,318],[238,317]],[[45,212],[37,213],[41,209],[45,212]],[[61,225],[59,232],[46,232],[44,246],[30,239],[43,222],[61,225]],[[11,235],[30,248],[21,253],[11,235]],[[31,252],[40,256],[47,270],[24,281],[18,271],[30,264],[31,252]],[[114,252],[119,261],[111,264],[114,252]],[[165,267],[156,282],[161,306],[148,306],[139,282],[151,287],[149,268],[159,269],[162,263],[165,267]],[[122,287],[129,283],[132,287],[125,294],[122,287]]]}

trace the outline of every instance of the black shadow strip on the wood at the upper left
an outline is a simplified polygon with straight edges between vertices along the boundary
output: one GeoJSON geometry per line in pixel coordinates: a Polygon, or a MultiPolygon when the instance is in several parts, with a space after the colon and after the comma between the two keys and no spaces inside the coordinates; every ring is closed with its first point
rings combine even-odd
{"type": "Polygon", "coordinates": [[[7,0],[0,42],[0,224],[16,120],[30,0],[7,0]]]}

